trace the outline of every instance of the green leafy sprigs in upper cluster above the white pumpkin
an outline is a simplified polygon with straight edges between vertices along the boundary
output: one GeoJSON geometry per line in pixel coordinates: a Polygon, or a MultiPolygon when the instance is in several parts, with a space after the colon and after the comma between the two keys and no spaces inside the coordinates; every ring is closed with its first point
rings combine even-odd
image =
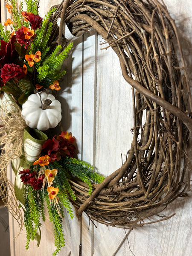
{"type": "MultiPolygon", "coordinates": [[[[11,31],[9,31],[9,29],[5,30],[5,27],[0,24],[0,37],[5,42],[9,42],[11,32],[14,34],[13,29],[17,32],[21,26],[28,28],[30,27],[30,24],[21,15],[21,12],[23,12],[22,1],[19,6],[16,0],[7,0],[6,3],[12,16],[12,24],[10,25],[11,31]]],[[[35,15],[38,15],[38,3],[36,0],[25,0],[25,3],[27,7],[25,11],[27,13],[34,13],[35,15]]],[[[28,96],[35,89],[36,84],[41,84],[43,89],[45,89],[46,87],[49,87],[50,84],[53,84],[54,81],[61,79],[66,73],[65,70],[61,70],[62,64],[64,59],[67,58],[67,54],[70,49],[73,47],[73,43],[70,43],[64,50],[61,50],[61,45],[59,45],[55,47],[51,53],[49,52],[50,49],[48,47],[49,37],[52,31],[52,23],[49,19],[55,11],[56,8],[49,10],[45,18],[42,20],[41,27],[35,29],[35,34],[30,39],[28,47],[24,47],[24,45],[21,46],[20,43],[14,42],[15,49],[19,54],[17,64],[26,65],[27,75],[25,78],[21,78],[17,81],[17,84],[15,84],[14,79],[8,81],[1,90],[6,93],[12,93],[16,102],[20,105],[27,100],[28,96]],[[38,62],[34,61],[33,66],[30,66],[25,56],[29,56],[31,54],[35,55],[35,52],[41,52],[41,59],[38,62]],[[23,87],[25,81],[27,81],[28,87],[23,87]]]]}

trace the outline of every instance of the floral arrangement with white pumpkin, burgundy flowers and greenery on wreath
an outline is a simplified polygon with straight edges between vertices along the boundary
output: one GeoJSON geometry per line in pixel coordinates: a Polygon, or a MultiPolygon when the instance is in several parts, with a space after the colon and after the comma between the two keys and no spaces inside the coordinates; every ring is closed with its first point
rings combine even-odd
{"type": "MultiPolygon", "coordinates": [[[[72,175],[79,177],[88,184],[88,194],[91,194],[92,182],[100,183],[104,178],[93,172],[90,164],[73,158],[75,138],[68,132],[47,137],[47,130],[61,121],[61,104],[52,91],[61,89],[59,79],[66,73],[61,71],[61,66],[73,44],[64,50],[59,45],[50,52],[52,23],[49,17],[56,9],[50,10],[43,19],[38,13],[38,0],[25,2],[26,10],[23,10],[23,2],[18,5],[17,0],[6,0],[11,18],[0,24],[0,125],[1,129],[6,126],[5,116],[11,113],[24,119],[22,155],[17,167],[12,161],[12,168],[16,174],[15,196],[24,210],[26,249],[33,239],[39,245],[40,217],[45,221],[46,202],[54,225],[56,250],[53,255],[56,255],[64,246],[63,207],[73,218],[68,195],[73,200],[76,195],[68,179],[72,175]],[[7,26],[10,29],[5,29],[7,26]]],[[[16,139],[9,143],[14,145],[16,139]]],[[[6,146],[3,149],[6,150],[6,146]]]]}

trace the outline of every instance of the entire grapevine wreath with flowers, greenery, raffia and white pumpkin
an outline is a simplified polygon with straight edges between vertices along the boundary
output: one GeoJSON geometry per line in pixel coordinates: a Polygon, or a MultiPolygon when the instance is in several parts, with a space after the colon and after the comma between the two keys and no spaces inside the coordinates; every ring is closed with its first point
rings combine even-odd
{"type": "Polygon", "coordinates": [[[0,189],[20,226],[17,200],[25,212],[26,249],[31,239],[40,241],[44,201],[55,229],[54,255],[64,245],[62,206],[73,218],[70,202],[78,218],[84,211],[90,219],[115,227],[150,223],[148,217],[185,195],[191,168],[189,79],[166,6],[157,0],[65,0],[42,20],[35,0],[26,0],[27,10],[15,0],[6,3],[12,20],[5,26],[12,26],[16,35],[1,25],[0,189]],[[60,90],[65,74],[61,65],[73,38],[90,29],[108,43],[104,49],[111,47],[117,54],[133,93],[131,149],[122,167],[105,179],[73,157],[75,138],[68,132],[52,137],[48,132],[61,120],[61,104],[52,93],[60,90]],[[6,59],[8,47],[12,63],[6,59]],[[10,160],[15,190],[6,178],[10,160]]]}

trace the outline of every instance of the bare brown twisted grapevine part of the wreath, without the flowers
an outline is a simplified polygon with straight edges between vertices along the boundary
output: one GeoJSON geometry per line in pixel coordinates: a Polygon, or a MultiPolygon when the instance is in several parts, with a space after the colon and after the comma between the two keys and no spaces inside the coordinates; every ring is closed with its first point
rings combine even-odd
{"type": "Polygon", "coordinates": [[[146,218],[189,188],[192,99],[174,20],[163,1],[65,0],[52,22],[53,45],[69,43],[62,35],[63,22],[73,35],[90,29],[101,34],[103,48],[116,52],[133,92],[134,138],[127,160],[94,185],[91,196],[84,183],[70,181],[77,195],[76,215],[84,211],[116,227],[146,224],[146,218]]]}

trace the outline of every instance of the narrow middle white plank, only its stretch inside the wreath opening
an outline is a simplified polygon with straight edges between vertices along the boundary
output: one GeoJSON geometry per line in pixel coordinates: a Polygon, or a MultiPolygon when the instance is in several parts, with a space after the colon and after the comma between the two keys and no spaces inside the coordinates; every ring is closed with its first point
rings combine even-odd
{"type": "Polygon", "coordinates": [[[96,37],[95,31],[84,33],[83,49],[83,160],[94,164],[96,122],[96,37]]]}

